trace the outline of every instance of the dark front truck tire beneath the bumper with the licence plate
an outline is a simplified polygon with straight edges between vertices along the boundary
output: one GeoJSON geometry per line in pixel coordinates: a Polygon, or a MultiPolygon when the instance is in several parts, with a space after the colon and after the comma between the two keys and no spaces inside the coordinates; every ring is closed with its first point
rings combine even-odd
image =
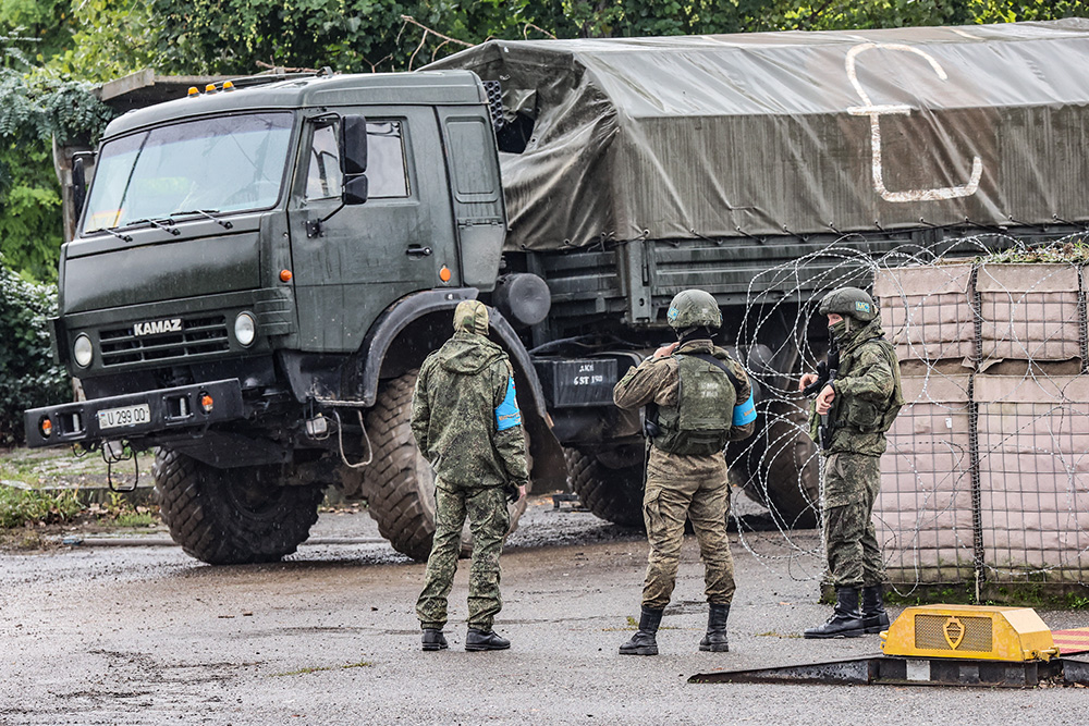
{"type": "Polygon", "coordinates": [[[321,487],[281,487],[279,467],[217,469],[159,448],[151,469],[170,536],[209,565],[276,562],[318,520],[321,487]]]}

